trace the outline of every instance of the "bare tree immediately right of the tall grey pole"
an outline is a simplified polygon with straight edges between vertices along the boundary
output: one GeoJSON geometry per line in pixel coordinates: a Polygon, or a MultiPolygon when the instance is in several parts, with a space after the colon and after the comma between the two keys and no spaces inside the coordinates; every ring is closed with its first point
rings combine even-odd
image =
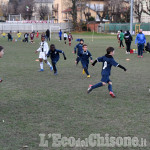
{"type": "Polygon", "coordinates": [[[137,16],[139,23],[141,22],[141,15],[143,13],[143,0],[136,0],[134,2],[134,13],[137,16]]]}

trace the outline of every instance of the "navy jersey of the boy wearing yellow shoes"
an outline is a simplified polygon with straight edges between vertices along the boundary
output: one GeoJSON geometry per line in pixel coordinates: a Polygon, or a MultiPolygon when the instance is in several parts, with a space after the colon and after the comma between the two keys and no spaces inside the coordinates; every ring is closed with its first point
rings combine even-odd
{"type": "Polygon", "coordinates": [[[92,60],[92,55],[88,50],[86,52],[80,52],[79,57],[82,63],[89,63],[89,58],[92,60]]]}

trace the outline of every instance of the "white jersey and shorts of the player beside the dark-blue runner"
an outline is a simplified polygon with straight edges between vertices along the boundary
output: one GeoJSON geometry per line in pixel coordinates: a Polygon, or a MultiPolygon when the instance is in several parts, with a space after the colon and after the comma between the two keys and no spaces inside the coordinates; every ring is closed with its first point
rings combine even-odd
{"type": "Polygon", "coordinates": [[[40,43],[40,47],[37,49],[39,53],[39,58],[47,60],[47,53],[49,51],[48,43],[46,41],[40,43]]]}

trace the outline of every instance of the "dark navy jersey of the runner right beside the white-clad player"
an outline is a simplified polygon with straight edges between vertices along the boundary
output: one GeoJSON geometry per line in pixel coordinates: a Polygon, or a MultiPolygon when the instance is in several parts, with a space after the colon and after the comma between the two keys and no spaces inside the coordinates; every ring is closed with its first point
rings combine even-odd
{"type": "Polygon", "coordinates": [[[57,49],[55,49],[54,51],[49,50],[47,56],[50,56],[52,61],[58,61],[60,57],[59,53],[63,54],[64,52],[61,50],[57,50],[57,49]]]}

